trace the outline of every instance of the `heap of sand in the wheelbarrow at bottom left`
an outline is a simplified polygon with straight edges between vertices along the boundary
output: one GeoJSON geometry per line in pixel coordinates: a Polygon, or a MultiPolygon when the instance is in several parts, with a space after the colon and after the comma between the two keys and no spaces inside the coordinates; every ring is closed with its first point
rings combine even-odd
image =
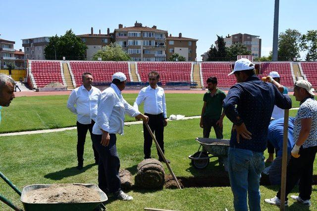
{"type": "Polygon", "coordinates": [[[99,193],[83,185],[53,184],[26,193],[27,203],[79,203],[100,201],[99,193]]]}

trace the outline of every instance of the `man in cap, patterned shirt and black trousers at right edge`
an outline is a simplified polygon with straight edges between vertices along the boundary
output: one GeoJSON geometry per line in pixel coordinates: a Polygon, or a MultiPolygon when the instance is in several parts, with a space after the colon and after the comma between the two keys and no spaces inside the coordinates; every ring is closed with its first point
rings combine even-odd
{"type": "MultiPolygon", "coordinates": [[[[311,206],[313,165],[317,153],[317,101],[314,99],[312,84],[299,80],[294,85],[294,96],[300,101],[294,122],[294,147],[287,165],[285,204],[287,195],[299,183],[299,196],[292,195],[296,202],[311,206]]],[[[281,190],[274,198],[265,199],[266,203],[280,205],[281,190]]]]}

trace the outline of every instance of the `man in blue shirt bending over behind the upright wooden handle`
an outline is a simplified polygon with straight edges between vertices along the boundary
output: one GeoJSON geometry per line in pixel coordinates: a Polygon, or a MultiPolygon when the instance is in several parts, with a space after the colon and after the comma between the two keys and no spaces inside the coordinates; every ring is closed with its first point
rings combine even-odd
{"type": "MultiPolygon", "coordinates": [[[[288,160],[291,155],[291,151],[294,146],[293,128],[294,117],[288,119],[288,142],[287,142],[287,155],[288,160]]],[[[283,151],[283,130],[284,130],[284,118],[273,120],[268,126],[267,139],[276,150],[276,158],[272,162],[271,166],[267,167],[265,171],[269,173],[269,181],[271,185],[281,184],[281,168],[282,168],[282,151],[283,151]]]]}

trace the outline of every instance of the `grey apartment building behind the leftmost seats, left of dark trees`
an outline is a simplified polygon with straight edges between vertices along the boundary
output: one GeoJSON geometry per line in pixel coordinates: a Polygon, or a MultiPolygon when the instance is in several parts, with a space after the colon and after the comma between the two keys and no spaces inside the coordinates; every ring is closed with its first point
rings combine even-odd
{"type": "Polygon", "coordinates": [[[25,59],[45,60],[45,47],[49,44],[50,37],[23,39],[25,59]]]}

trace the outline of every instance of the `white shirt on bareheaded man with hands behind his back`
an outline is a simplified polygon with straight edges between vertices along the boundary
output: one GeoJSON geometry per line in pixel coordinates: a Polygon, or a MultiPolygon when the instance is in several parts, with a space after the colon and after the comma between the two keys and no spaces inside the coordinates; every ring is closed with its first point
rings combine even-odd
{"type": "Polygon", "coordinates": [[[81,124],[91,124],[91,120],[96,122],[97,102],[101,91],[92,86],[88,91],[84,85],[81,85],[69,95],[67,108],[74,114],[77,114],[77,121],[81,124]],[[76,107],[74,106],[76,104],[76,107]]]}

